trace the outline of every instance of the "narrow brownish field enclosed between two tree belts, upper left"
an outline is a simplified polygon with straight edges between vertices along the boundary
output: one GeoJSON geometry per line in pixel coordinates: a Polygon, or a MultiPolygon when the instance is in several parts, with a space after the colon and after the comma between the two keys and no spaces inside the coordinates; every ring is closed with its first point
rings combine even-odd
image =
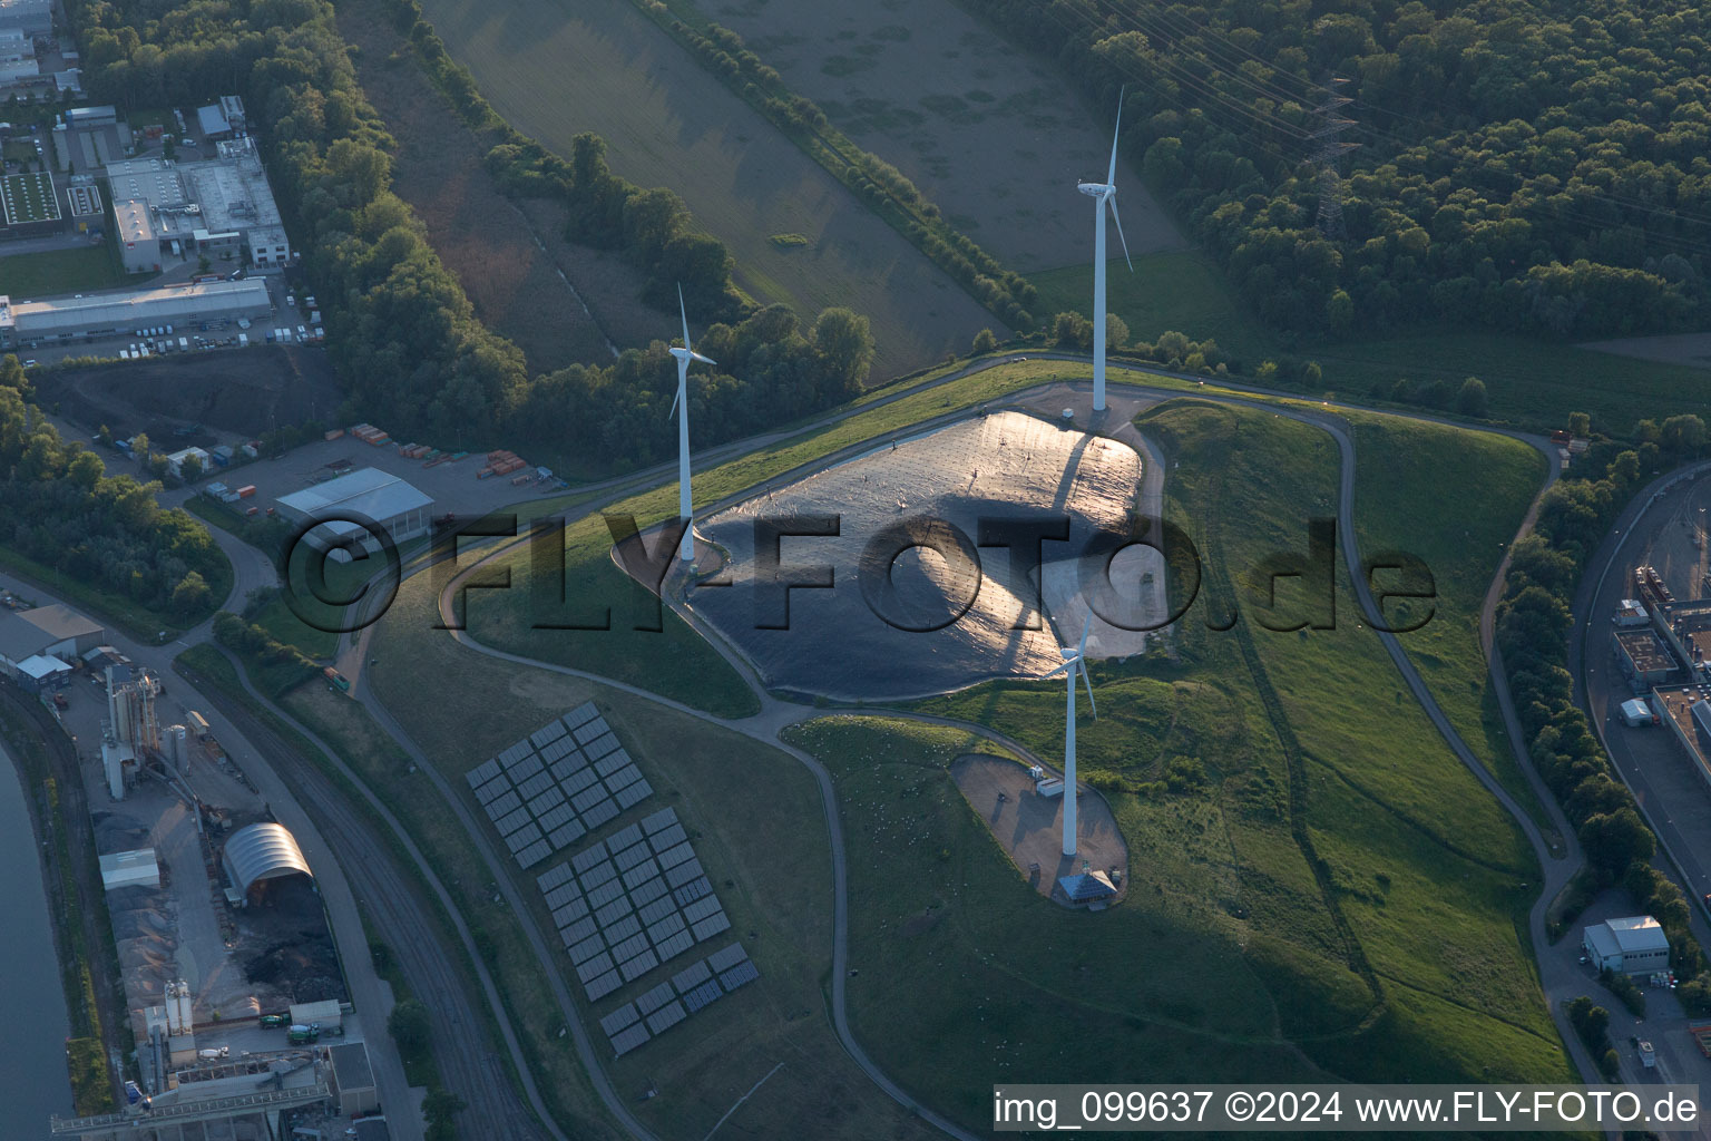
{"type": "Polygon", "coordinates": [[[565,241],[561,205],[524,207],[503,193],[484,163],[498,132],[452,111],[378,3],[342,5],[339,31],[361,48],[363,92],[399,140],[392,190],[416,209],[476,315],[524,351],[530,373],[604,364],[607,337],[642,346],[669,327],[669,315],[638,301],[635,267],[565,241]],[[548,207],[541,219],[539,207],[548,207]]]}

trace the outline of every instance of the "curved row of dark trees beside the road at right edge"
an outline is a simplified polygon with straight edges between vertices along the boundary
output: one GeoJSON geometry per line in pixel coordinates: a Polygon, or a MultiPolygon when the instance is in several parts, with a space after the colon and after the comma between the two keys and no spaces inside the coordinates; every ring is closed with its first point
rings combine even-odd
{"type": "MultiPolygon", "coordinates": [[[[1574,414],[1569,429],[1586,436],[1591,424],[1574,414]]],[[[1702,1014],[1711,1013],[1711,972],[1689,929],[1692,912],[1680,888],[1651,867],[1656,838],[1576,705],[1567,671],[1571,606],[1586,559],[1639,489],[1643,470],[1697,458],[1706,445],[1697,416],[1641,421],[1632,435],[1637,448],[1596,440],[1574,474],[1540,500],[1533,532],[1511,551],[1497,648],[1533,765],[1576,828],[1588,867],[1600,886],[1624,884],[1636,907],[1658,919],[1670,937],[1672,965],[1689,980],[1680,987],[1682,1002],[1702,1014]]]]}

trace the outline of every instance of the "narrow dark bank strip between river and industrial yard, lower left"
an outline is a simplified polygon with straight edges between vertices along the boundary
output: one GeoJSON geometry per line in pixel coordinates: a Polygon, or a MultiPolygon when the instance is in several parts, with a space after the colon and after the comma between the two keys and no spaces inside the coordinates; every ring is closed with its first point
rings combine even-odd
{"type": "MultiPolygon", "coordinates": [[[[0,701],[0,736],[5,737],[7,754],[19,768],[19,777],[26,790],[31,792],[31,818],[38,837],[43,837],[43,860],[48,878],[48,898],[53,907],[53,943],[60,953],[60,985],[65,990],[65,1013],[70,1023],[70,1037],[65,1040],[65,1067],[72,1083],[72,1108],[79,1117],[106,1114],[116,1108],[113,1095],[113,1071],[108,1064],[108,1049],[101,1042],[101,1016],[96,1004],[94,973],[91,961],[94,955],[103,955],[111,963],[111,977],[120,978],[118,951],[111,937],[101,948],[91,948],[86,936],[87,927],[98,924],[99,931],[111,932],[113,925],[106,915],[104,896],[101,915],[84,915],[77,893],[77,866],[86,864],[86,874],[99,874],[98,857],[92,848],[72,854],[72,830],[65,819],[65,807],[60,802],[60,785],[48,763],[44,744],[36,737],[36,727],[24,722],[3,701],[0,701]]],[[[113,999],[123,1004],[123,994],[113,999]]],[[[115,1049],[128,1049],[130,1043],[113,1043],[115,1049]]]]}

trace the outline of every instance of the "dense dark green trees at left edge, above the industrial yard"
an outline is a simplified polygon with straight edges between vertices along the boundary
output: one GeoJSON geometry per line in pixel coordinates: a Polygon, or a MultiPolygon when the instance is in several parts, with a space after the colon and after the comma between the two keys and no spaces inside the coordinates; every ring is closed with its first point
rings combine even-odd
{"type": "Polygon", "coordinates": [[[163,510],[157,482],[108,476],[26,399],[24,368],[0,358],[0,542],[115,597],[198,619],[226,556],[197,518],[163,510]]]}

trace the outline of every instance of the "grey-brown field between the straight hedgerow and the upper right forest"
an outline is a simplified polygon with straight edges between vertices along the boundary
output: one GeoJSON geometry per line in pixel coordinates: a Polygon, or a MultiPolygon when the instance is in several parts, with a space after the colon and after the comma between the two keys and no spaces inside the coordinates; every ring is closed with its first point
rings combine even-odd
{"type": "MultiPolygon", "coordinates": [[[[676,0],[674,10],[691,3],[1006,267],[1032,274],[1092,260],[1093,202],[1075,183],[1104,181],[1116,106],[1086,106],[1054,62],[953,0],[676,0]]],[[[1117,186],[1131,253],[1184,246],[1131,163],[1117,163],[1117,186]]],[[[1121,250],[1116,231],[1109,243],[1121,250]]]]}

